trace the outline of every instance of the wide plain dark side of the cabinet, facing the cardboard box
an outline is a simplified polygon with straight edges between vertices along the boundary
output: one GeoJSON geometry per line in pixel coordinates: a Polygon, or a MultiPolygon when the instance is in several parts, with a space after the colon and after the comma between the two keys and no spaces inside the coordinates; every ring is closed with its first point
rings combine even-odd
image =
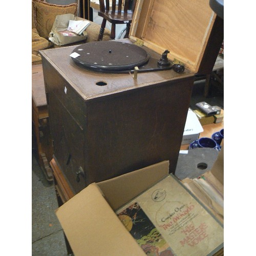
{"type": "Polygon", "coordinates": [[[91,181],[170,161],[174,173],[193,78],[90,102],[86,131],[91,181]]]}

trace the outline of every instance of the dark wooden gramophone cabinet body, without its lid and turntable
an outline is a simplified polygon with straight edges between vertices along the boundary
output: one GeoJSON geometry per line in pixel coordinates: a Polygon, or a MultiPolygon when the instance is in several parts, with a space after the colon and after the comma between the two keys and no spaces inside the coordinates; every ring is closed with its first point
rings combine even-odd
{"type": "Polygon", "coordinates": [[[163,160],[174,173],[194,74],[92,72],[73,49],[41,55],[54,158],[74,193],[163,160]]]}

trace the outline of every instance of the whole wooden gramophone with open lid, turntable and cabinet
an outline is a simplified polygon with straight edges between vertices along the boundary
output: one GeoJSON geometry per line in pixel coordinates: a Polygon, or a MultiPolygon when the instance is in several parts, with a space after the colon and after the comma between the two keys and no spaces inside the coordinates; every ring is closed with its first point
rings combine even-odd
{"type": "Polygon", "coordinates": [[[40,51],[53,157],[75,194],[163,160],[175,172],[195,73],[214,66],[220,25],[204,0],[138,0],[129,38],[40,51]]]}

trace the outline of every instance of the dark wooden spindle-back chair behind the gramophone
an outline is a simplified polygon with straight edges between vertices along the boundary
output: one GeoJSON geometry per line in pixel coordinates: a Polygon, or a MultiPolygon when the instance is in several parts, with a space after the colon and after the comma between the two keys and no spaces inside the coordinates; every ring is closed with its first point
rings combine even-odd
{"type": "Polygon", "coordinates": [[[102,40],[106,20],[111,23],[111,39],[115,39],[116,24],[126,24],[124,38],[129,36],[136,0],[118,0],[117,4],[116,2],[116,0],[99,0],[100,11],[98,12],[98,15],[101,16],[103,20],[99,31],[98,41],[102,40]],[[110,2],[112,2],[112,5],[110,5],[110,2]]]}

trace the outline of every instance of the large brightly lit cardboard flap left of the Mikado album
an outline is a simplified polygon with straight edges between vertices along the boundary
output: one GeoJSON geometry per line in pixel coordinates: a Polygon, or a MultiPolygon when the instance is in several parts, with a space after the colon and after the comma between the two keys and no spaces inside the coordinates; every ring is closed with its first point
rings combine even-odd
{"type": "Polygon", "coordinates": [[[144,255],[95,183],[58,208],[56,215],[76,256],[144,255]]]}

